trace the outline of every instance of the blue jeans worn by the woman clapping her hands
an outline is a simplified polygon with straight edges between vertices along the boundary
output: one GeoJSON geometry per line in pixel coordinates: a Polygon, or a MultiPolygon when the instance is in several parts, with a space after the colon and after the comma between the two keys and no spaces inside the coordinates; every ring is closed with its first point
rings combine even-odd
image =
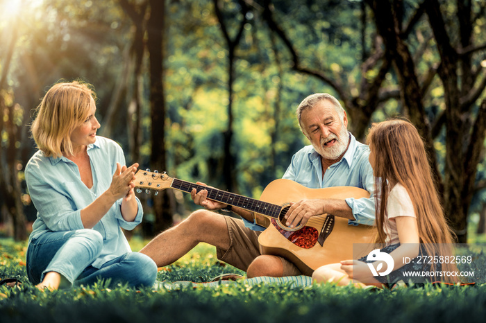
{"type": "Polygon", "coordinates": [[[47,272],[58,272],[72,285],[92,285],[98,279],[110,279],[110,286],[128,283],[131,287],[153,286],[157,265],[145,254],[128,252],[91,266],[103,248],[103,237],[92,229],[46,232],[31,239],[27,249],[27,275],[37,284],[47,272]]]}

